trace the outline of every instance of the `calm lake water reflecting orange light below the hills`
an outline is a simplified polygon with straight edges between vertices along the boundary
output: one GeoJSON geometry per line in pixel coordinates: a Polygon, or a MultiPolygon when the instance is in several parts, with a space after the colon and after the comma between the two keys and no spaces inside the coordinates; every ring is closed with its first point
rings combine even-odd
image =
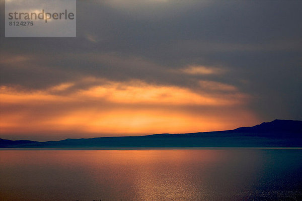
{"type": "Polygon", "coordinates": [[[302,200],[302,150],[2,150],[0,200],[302,200]]]}

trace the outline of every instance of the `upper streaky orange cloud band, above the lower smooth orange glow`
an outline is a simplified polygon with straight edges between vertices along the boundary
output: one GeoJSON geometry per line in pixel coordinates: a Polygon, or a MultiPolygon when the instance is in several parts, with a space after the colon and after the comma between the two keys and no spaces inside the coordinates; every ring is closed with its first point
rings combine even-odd
{"type": "Polygon", "coordinates": [[[236,87],[213,81],[200,81],[203,92],[198,93],[189,88],[154,85],[139,80],[117,82],[101,79],[96,82],[96,78],[88,77],[80,80],[80,83],[89,80],[101,85],[73,90],[67,94],[60,92],[72,88],[76,83],[61,83],[46,90],[31,91],[20,91],[18,88],[2,86],[2,103],[81,99],[87,102],[101,100],[116,104],[232,106],[243,104],[247,98],[239,93],[236,87]],[[232,93],[219,95],[217,91],[231,91],[232,93]]]}

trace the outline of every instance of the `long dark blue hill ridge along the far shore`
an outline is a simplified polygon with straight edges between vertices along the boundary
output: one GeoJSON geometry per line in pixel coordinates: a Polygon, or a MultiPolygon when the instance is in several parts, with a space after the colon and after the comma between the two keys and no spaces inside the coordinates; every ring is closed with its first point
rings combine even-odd
{"type": "Polygon", "coordinates": [[[0,139],[0,148],[302,147],[302,121],[274,120],[229,131],[37,142],[0,139]]]}

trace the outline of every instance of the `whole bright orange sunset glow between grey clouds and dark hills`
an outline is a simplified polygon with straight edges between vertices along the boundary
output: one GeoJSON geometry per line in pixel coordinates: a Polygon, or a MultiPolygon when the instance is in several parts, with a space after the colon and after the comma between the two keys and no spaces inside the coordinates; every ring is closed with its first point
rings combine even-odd
{"type": "Polygon", "coordinates": [[[200,93],[137,80],[104,80],[102,85],[68,91],[74,84],[43,91],[3,86],[2,135],[43,140],[217,131],[257,123],[245,108],[249,97],[221,83],[202,81],[210,90],[200,93]]]}

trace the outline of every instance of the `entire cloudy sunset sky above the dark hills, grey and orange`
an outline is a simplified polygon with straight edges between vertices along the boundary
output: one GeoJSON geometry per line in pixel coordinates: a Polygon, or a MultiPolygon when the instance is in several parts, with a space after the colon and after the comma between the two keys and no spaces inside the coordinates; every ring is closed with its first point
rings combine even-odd
{"type": "MultiPolygon", "coordinates": [[[[0,138],[302,120],[302,1],[77,1],[77,37],[5,38],[0,138]]],[[[59,31],[59,30],[58,30],[59,31]]]]}

